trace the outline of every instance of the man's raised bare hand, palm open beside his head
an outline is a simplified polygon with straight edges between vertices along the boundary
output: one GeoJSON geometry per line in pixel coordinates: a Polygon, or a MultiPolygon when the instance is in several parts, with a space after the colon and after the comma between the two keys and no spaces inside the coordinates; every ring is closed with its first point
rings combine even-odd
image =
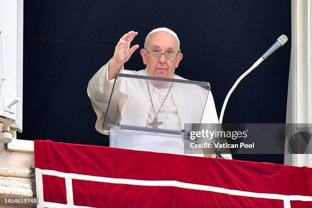
{"type": "Polygon", "coordinates": [[[133,39],[138,35],[138,32],[130,31],[123,35],[120,40],[118,41],[114,56],[110,61],[109,71],[108,71],[108,78],[112,80],[116,77],[121,66],[129,60],[132,56],[134,51],[139,48],[139,45],[134,45],[130,47],[131,42],[133,39]]]}

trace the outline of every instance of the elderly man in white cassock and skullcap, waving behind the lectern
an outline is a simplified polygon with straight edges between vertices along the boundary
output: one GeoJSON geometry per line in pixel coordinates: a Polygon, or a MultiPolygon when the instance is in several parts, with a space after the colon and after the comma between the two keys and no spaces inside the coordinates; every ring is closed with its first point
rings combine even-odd
{"type": "MultiPolygon", "coordinates": [[[[103,133],[103,119],[117,73],[185,80],[175,74],[175,69],[183,59],[179,39],[167,28],[154,29],[146,36],[144,48],[140,50],[146,69],[125,70],[123,64],[139,48],[139,45],[131,47],[131,42],[137,35],[138,32],[134,31],[123,35],[115,47],[114,56],[89,82],[88,95],[97,115],[96,129],[100,133],[103,133]]],[[[120,93],[125,95],[117,101],[121,114],[120,124],[151,127],[150,124],[156,121],[161,122],[159,128],[181,130],[184,123],[218,123],[212,93],[201,87],[179,89],[178,85],[157,86],[147,82],[127,82],[120,86],[120,93]],[[132,99],[137,98],[138,94],[140,100],[132,99]],[[187,97],[189,102],[179,100],[182,96],[184,99],[187,97]],[[195,96],[200,100],[193,100],[195,96]],[[201,118],[203,109],[204,120],[201,118]]]]}

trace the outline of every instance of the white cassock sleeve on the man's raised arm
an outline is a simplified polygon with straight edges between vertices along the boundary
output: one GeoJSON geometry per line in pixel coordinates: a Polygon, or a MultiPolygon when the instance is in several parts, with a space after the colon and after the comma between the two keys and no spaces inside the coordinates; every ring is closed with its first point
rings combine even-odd
{"type": "MultiPolygon", "coordinates": [[[[97,116],[95,129],[101,134],[103,132],[102,125],[105,119],[106,110],[110,100],[111,92],[114,86],[115,79],[108,80],[108,68],[110,61],[102,66],[91,78],[88,84],[87,93],[90,97],[92,107],[97,116]]],[[[123,72],[123,65],[118,73],[123,72]]]]}

